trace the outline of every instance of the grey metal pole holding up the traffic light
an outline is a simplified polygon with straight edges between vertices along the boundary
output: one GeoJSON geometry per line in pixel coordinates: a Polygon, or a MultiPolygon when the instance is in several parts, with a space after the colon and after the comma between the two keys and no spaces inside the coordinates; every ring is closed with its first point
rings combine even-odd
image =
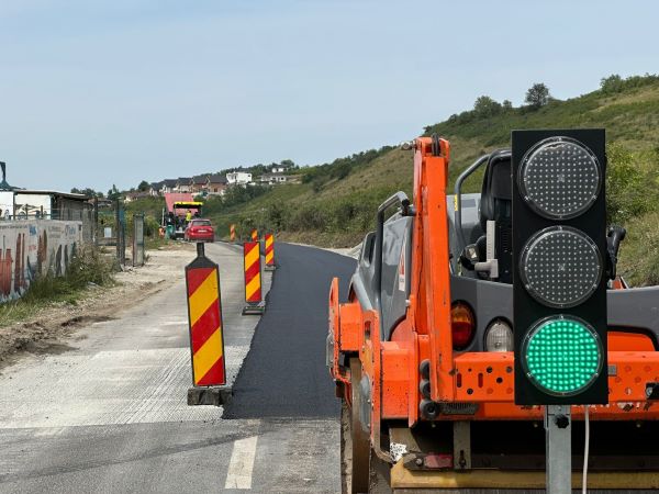
{"type": "Polygon", "coordinates": [[[572,417],[570,405],[545,406],[547,494],[572,492],[572,417]]]}

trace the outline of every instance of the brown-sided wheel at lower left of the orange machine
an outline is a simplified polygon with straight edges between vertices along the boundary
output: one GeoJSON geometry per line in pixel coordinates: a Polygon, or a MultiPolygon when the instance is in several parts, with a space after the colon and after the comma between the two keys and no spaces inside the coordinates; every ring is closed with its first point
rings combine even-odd
{"type": "Polygon", "coordinates": [[[357,494],[369,492],[369,435],[361,428],[359,406],[361,402],[359,381],[361,381],[361,363],[358,358],[350,359],[350,402],[343,400],[340,467],[342,493],[357,494]]]}

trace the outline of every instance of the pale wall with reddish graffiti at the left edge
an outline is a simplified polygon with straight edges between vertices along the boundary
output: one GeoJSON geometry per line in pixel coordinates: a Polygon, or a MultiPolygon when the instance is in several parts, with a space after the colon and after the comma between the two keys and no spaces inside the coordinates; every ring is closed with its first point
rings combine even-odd
{"type": "Polygon", "coordinates": [[[66,273],[81,232],[82,222],[0,221],[0,303],[22,296],[40,274],[66,273]]]}

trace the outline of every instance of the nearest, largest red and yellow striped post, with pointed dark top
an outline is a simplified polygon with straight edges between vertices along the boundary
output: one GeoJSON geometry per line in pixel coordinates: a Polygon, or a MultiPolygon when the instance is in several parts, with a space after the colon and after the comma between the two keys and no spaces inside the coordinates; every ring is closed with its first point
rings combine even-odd
{"type": "Polygon", "coordinates": [[[220,294],[220,270],[197,244],[197,258],[186,267],[192,388],[188,405],[221,405],[231,397],[220,294]]]}

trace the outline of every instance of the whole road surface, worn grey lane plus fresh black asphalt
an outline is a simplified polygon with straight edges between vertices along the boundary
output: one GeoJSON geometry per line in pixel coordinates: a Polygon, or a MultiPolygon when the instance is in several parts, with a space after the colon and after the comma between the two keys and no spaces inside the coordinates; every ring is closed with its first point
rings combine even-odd
{"type": "Polygon", "coordinates": [[[74,350],[2,372],[0,493],[339,491],[325,299],[331,273],[347,280],[354,261],[278,245],[271,305],[253,341],[259,318],[241,315],[242,257],[225,245],[206,252],[221,269],[232,380],[249,351],[227,411],[239,418],[186,405],[191,377],[181,273],[145,303],[126,301],[130,308],[115,319],[81,328],[69,343],[74,350]],[[291,363],[292,355],[301,358],[291,363]]]}

